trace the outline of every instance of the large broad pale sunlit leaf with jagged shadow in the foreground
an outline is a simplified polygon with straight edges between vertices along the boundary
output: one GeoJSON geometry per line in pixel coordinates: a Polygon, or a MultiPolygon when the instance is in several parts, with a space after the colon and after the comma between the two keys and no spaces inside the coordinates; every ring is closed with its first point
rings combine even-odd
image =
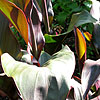
{"type": "Polygon", "coordinates": [[[65,46],[43,66],[15,61],[1,56],[4,72],[13,77],[23,100],[65,100],[75,68],[73,52],[65,46]]]}

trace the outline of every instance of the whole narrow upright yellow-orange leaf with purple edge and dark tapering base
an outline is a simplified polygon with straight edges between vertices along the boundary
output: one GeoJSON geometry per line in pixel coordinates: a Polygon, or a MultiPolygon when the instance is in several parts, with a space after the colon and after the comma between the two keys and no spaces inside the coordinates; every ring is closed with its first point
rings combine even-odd
{"type": "Polygon", "coordinates": [[[81,72],[84,66],[84,61],[86,60],[86,41],[84,39],[84,36],[82,35],[82,32],[77,27],[74,28],[74,33],[75,49],[78,55],[79,67],[81,72]]]}

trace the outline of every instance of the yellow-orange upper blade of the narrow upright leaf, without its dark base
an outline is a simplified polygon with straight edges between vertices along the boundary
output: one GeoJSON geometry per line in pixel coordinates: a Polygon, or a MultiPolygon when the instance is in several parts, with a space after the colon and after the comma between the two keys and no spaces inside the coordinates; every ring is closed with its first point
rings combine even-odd
{"type": "Polygon", "coordinates": [[[86,53],[86,42],[78,28],[75,28],[75,38],[76,38],[76,52],[79,59],[81,59],[86,53]]]}

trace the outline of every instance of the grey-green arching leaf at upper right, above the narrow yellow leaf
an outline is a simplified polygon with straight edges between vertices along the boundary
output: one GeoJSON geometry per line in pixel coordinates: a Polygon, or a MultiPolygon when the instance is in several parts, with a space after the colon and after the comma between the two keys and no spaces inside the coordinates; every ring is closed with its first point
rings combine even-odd
{"type": "Polygon", "coordinates": [[[74,26],[78,27],[80,25],[86,24],[86,23],[94,23],[96,22],[96,19],[94,19],[90,13],[86,10],[76,13],[72,15],[71,22],[69,24],[67,33],[71,32],[74,28],[74,26]]]}

